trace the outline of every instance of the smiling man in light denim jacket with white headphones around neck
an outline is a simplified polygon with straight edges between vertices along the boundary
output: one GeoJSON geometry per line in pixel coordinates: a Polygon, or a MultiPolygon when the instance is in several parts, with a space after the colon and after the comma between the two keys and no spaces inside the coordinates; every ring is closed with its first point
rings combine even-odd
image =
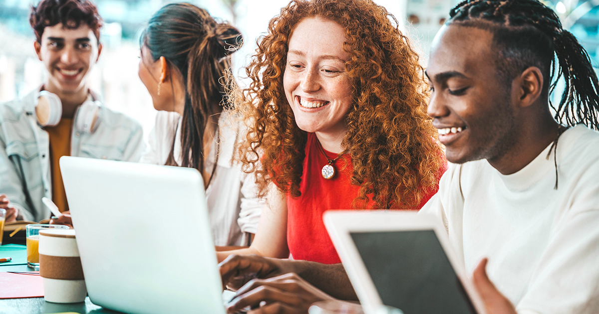
{"type": "Polygon", "coordinates": [[[141,125],[99,103],[87,76],[102,52],[101,18],[87,0],[43,0],[29,18],[44,84],[0,104],[0,208],[7,221],[50,218],[41,199],[68,211],[59,158],[138,161],[141,125]]]}

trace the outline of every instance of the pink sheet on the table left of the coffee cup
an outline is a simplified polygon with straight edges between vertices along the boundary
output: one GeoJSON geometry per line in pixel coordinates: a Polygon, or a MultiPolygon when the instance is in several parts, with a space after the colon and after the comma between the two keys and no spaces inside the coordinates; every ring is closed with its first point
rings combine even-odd
{"type": "Polygon", "coordinates": [[[44,283],[38,272],[0,272],[1,298],[37,298],[44,296],[44,283]]]}

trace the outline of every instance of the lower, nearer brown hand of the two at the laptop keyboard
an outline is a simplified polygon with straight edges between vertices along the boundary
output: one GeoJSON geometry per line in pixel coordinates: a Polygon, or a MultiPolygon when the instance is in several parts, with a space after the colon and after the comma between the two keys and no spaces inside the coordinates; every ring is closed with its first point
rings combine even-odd
{"type": "Polygon", "coordinates": [[[252,279],[238,289],[228,304],[228,313],[249,306],[249,314],[308,313],[316,301],[334,300],[295,273],[286,273],[268,279],[252,279]]]}

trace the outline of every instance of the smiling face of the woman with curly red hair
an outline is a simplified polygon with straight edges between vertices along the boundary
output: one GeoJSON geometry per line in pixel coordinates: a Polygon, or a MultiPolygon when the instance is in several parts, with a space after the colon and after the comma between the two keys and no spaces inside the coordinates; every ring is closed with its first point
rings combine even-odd
{"type": "Polygon", "coordinates": [[[299,129],[343,135],[352,104],[352,84],[345,70],[345,29],[335,22],[310,17],[295,26],[283,85],[299,129]]]}

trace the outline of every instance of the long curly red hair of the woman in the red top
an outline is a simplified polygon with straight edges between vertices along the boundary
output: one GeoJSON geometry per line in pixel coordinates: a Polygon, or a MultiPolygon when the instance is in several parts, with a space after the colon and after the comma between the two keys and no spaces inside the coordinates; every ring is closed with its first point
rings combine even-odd
{"type": "Polygon", "coordinates": [[[341,146],[352,160],[351,182],[361,186],[354,206],[367,207],[372,198],[377,208],[418,208],[437,188],[443,153],[426,115],[418,54],[395,17],[371,0],[293,0],[270,20],[246,69],[251,83],[238,108],[249,124],[241,147],[244,170],[264,178],[259,180],[262,195],[274,181],[279,190],[300,196],[307,133],[295,123],[283,72],[289,38],[307,17],[346,29],[343,48],[350,59],[345,67],[353,94],[341,146]]]}

